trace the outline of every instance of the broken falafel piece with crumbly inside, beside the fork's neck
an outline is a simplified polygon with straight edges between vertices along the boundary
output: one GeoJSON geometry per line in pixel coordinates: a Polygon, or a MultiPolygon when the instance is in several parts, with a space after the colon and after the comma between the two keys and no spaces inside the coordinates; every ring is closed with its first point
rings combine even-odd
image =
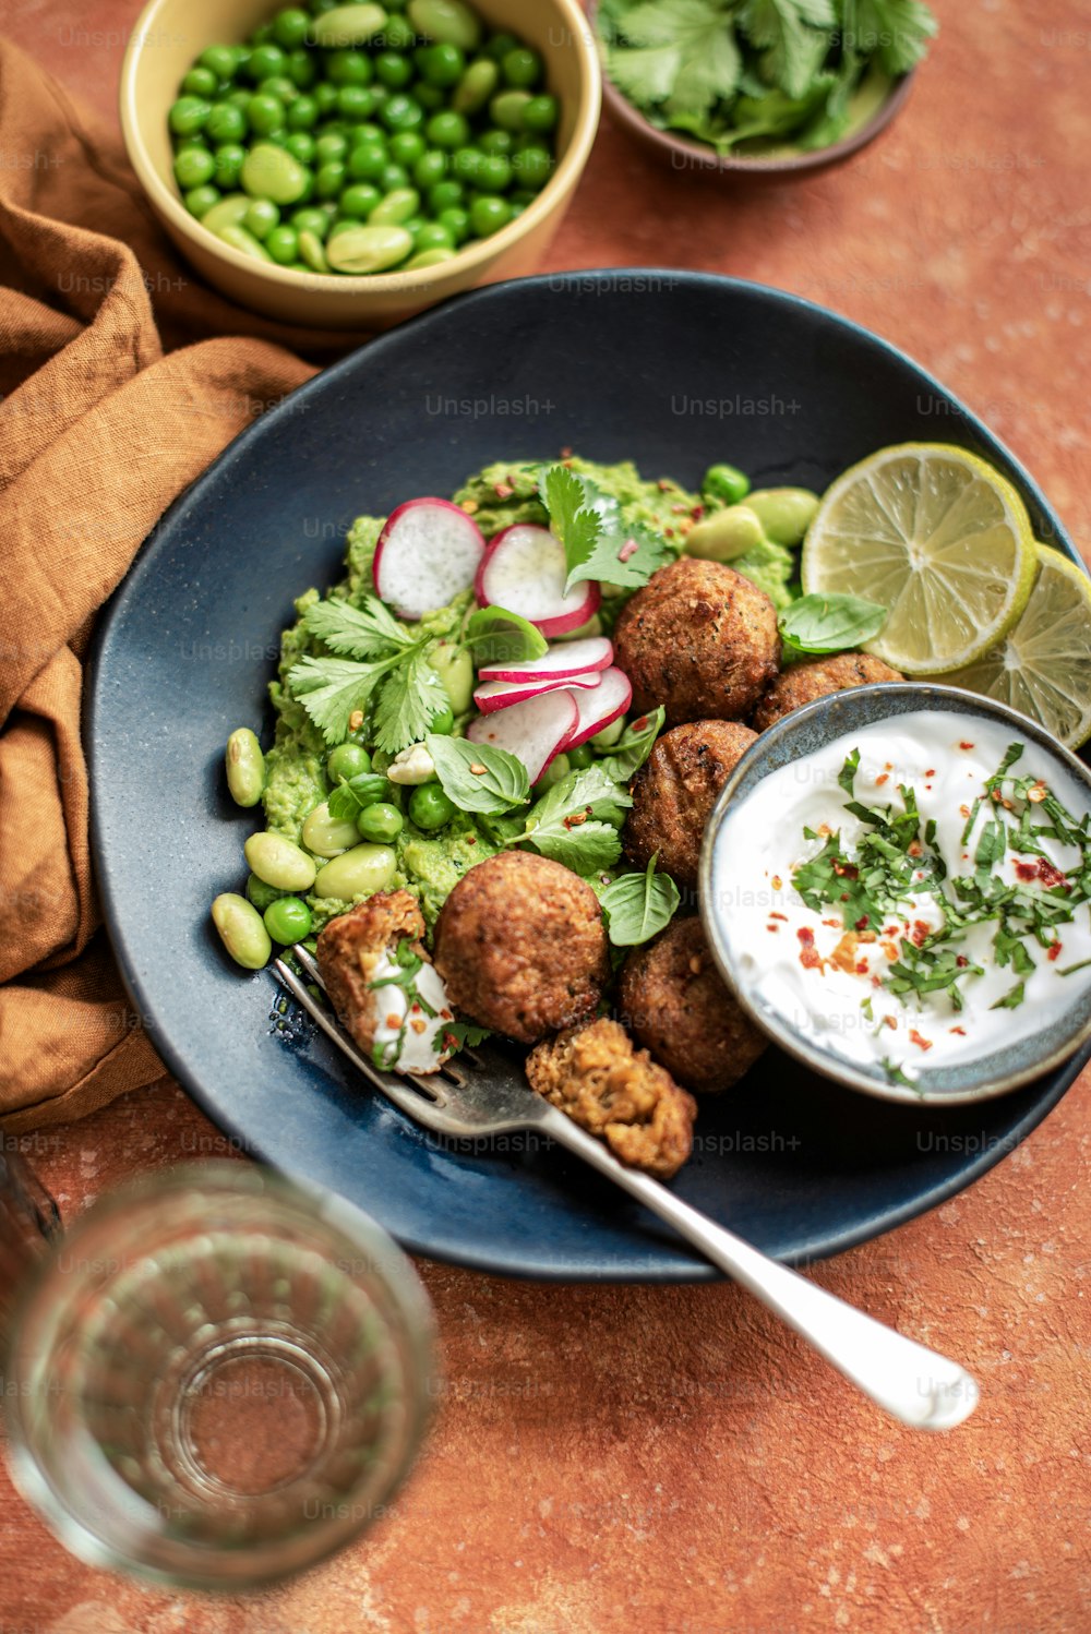
{"type": "Polygon", "coordinates": [[[670,1180],[692,1150],[697,1103],[647,1049],[634,1049],[617,1021],[546,1039],[528,1056],[526,1075],[573,1123],[603,1136],[622,1163],[670,1180]]]}

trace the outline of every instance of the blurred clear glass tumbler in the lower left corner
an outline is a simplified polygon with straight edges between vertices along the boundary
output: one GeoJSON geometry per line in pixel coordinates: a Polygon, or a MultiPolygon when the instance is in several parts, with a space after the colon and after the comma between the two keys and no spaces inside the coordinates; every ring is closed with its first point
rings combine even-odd
{"type": "Polygon", "coordinates": [[[436,1395],[413,1266],[359,1209],[248,1163],[96,1203],[10,1340],[11,1472],[93,1565],[235,1592],[384,1513],[436,1395]]]}

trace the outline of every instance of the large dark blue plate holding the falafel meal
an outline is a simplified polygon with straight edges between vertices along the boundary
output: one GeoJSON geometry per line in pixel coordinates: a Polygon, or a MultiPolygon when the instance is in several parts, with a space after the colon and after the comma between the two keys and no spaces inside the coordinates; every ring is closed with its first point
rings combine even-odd
{"type": "MultiPolygon", "coordinates": [[[[343,1193],[410,1250],[536,1278],[714,1278],[575,1159],[511,1137],[439,1147],[229,964],[209,904],[245,879],[253,815],[224,788],[292,598],[338,575],[354,516],[449,493],[493,459],[635,459],[696,485],[823,489],[887,443],[960,443],[1060,521],[980,420],[893,346],[794,296],[701,273],[598,271],[475,291],[371,342],[263,415],[178,498],[103,614],[87,685],[91,822],[109,935],[170,1070],[242,1145],[343,1193]]],[[[983,1106],[916,1109],[771,1049],[706,1101],[678,1191],[766,1253],[838,1253],[970,1185],[1060,1100],[1084,1051],[983,1106]]]]}

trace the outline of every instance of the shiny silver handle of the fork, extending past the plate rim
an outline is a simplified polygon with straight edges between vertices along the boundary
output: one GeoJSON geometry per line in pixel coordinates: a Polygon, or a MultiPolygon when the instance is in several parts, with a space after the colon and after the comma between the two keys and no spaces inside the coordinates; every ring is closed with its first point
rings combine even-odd
{"type": "Polygon", "coordinates": [[[769,1260],[683,1203],[658,1180],[627,1168],[601,1141],[550,1108],[549,1134],[658,1214],[694,1248],[748,1288],[769,1310],[802,1333],[838,1373],[893,1418],[916,1430],[951,1430],[978,1402],[977,1381],[955,1361],[846,1306],[836,1294],[769,1260]]]}

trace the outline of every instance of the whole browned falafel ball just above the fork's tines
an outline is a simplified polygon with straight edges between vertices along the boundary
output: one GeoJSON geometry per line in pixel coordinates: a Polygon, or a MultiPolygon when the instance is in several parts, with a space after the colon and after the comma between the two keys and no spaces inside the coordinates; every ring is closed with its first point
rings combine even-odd
{"type": "Polygon", "coordinates": [[[598,897],[560,863],[500,851],[444,902],[436,969],[474,1021],[534,1044],[591,1015],[609,982],[598,897]]]}

